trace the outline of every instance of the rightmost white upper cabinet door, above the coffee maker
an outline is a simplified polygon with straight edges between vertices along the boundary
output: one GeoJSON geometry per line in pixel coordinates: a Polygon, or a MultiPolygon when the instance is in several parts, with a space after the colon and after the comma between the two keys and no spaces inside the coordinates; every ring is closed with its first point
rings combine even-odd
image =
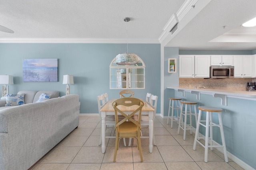
{"type": "Polygon", "coordinates": [[[253,61],[252,55],[243,56],[243,77],[253,76],[253,61]]]}

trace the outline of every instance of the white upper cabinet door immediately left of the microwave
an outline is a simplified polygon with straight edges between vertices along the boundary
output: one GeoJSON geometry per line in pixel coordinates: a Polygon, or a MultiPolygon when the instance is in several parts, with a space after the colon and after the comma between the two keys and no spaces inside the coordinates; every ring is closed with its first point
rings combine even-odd
{"type": "Polygon", "coordinates": [[[211,57],[209,55],[195,56],[195,77],[210,77],[211,57]]]}

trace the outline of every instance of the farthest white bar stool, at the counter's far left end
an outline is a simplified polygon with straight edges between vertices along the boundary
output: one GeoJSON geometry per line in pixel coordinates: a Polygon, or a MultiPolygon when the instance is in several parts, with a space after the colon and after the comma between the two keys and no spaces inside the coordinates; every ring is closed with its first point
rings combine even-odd
{"type": "Polygon", "coordinates": [[[171,119],[171,128],[172,128],[172,121],[179,121],[180,114],[180,100],[181,99],[175,99],[175,98],[169,98],[170,99],[170,104],[169,104],[169,111],[168,111],[168,119],[167,119],[167,124],[169,124],[169,118],[171,119]],[[176,106],[175,106],[176,102],[176,106]],[[170,116],[170,109],[172,108],[172,116],[170,116]],[[174,110],[177,112],[177,116],[173,117],[174,110]]]}

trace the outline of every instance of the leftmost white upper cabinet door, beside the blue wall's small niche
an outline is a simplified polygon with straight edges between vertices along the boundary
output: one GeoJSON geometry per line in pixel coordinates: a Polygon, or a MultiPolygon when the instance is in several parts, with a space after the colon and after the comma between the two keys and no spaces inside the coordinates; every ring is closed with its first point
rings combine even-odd
{"type": "Polygon", "coordinates": [[[179,56],[180,77],[194,77],[194,55],[179,56]]]}

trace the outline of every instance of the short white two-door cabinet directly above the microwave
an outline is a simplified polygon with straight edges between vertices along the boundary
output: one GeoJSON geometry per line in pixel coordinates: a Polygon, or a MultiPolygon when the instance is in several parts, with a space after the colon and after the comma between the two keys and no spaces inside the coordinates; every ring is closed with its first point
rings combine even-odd
{"type": "Polygon", "coordinates": [[[233,66],[233,55],[211,55],[212,66],[233,66]]]}

